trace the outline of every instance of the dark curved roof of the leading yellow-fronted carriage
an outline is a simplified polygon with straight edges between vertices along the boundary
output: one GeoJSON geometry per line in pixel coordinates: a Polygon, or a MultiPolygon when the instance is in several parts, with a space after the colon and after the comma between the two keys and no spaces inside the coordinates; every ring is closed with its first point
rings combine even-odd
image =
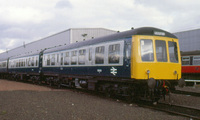
{"type": "Polygon", "coordinates": [[[119,39],[123,39],[123,38],[129,38],[129,37],[132,37],[133,35],[153,35],[153,36],[177,38],[175,35],[167,32],[167,31],[158,29],[158,28],[142,27],[142,28],[125,31],[125,32],[115,33],[115,34],[104,36],[104,37],[95,38],[92,40],[82,41],[82,42],[78,42],[78,43],[72,43],[72,44],[69,44],[66,46],[50,48],[50,49],[45,50],[44,53],[62,51],[62,50],[67,50],[67,49],[73,49],[73,48],[98,44],[98,43],[107,42],[107,41],[114,41],[114,40],[119,40],[119,39]]]}

